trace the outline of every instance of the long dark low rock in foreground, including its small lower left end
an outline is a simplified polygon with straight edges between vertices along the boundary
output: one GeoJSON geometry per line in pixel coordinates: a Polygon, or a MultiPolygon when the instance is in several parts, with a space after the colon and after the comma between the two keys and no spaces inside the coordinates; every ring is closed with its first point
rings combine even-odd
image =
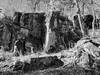
{"type": "Polygon", "coordinates": [[[35,71],[44,70],[48,68],[58,68],[63,66],[63,62],[59,60],[56,56],[54,57],[41,57],[41,58],[31,58],[31,62],[21,62],[17,61],[13,67],[13,71],[35,71]]]}

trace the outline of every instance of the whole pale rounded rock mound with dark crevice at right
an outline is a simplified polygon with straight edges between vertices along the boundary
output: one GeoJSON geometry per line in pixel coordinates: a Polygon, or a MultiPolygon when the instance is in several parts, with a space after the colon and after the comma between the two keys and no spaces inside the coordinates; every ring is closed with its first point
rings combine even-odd
{"type": "Polygon", "coordinates": [[[94,44],[90,39],[79,42],[77,43],[76,52],[77,64],[85,69],[94,68],[94,64],[97,64],[98,61],[97,58],[100,57],[100,49],[98,48],[97,43],[94,44]],[[79,44],[79,42],[81,43],[79,44]]]}

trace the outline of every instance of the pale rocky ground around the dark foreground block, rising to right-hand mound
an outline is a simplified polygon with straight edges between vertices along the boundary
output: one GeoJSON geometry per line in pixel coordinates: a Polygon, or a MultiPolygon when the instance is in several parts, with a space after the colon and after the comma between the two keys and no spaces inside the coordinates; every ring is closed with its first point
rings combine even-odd
{"type": "MultiPolygon", "coordinates": [[[[100,31],[96,32],[99,34],[100,31]]],[[[94,42],[100,44],[100,37],[91,38],[94,42]]],[[[46,54],[44,52],[34,53],[25,56],[15,57],[11,52],[0,50],[0,75],[100,75],[97,64],[100,61],[100,46],[96,47],[92,43],[84,43],[85,40],[79,40],[76,46],[70,50],[63,50],[59,53],[46,54]],[[82,53],[81,53],[82,51],[82,53]],[[89,57],[90,55],[90,57],[89,57]],[[30,63],[31,58],[42,58],[57,56],[64,62],[63,66],[57,68],[48,68],[44,70],[36,70],[30,72],[13,71],[13,66],[17,61],[30,63]],[[92,56],[92,57],[91,57],[92,56]],[[93,61],[92,60],[96,60],[93,61]],[[88,67],[92,63],[92,69],[88,67]]]]}

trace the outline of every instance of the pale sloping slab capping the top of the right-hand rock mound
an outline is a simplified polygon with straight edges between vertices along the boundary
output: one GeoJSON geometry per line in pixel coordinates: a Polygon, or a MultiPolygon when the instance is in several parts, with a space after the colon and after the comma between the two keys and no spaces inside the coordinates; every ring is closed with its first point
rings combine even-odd
{"type": "Polygon", "coordinates": [[[83,49],[83,51],[94,56],[95,58],[100,56],[99,44],[91,39],[83,39],[78,41],[75,48],[76,52],[80,51],[80,49],[83,49]]]}

